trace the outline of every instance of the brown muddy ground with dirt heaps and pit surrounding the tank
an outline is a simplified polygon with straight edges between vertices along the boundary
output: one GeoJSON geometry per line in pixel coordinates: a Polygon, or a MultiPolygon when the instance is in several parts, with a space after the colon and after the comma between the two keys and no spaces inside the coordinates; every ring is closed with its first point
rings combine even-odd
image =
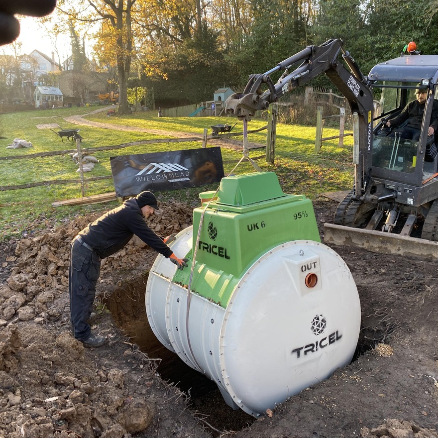
{"type": "MultiPolygon", "coordinates": [[[[336,203],[314,206],[323,233],[336,203]]],[[[150,225],[167,235],[191,212],[162,204],[150,225]]],[[[72,337],[68,245],[92,219],[1,244],[0,437],[438,437],[437,262],[333,247],[360,295],[357,357],[254,419],[151,335],[144,290],[156,254],[135,239],[102,267],[93,329],[108,343],[84,349],[72,337]]]]}

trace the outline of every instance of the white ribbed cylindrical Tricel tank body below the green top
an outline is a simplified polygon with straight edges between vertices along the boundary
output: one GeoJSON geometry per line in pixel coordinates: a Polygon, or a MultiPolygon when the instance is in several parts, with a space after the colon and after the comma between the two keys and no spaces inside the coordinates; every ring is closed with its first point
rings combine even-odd
{"type": "MultiPolygon", "coordinates": [[[[178,234],[176,254],[192,249],[192,232],[178,234]]],[[[146,286],[150,326],[167,348],[214,380],[233,408],[257,417],[353,357],[357,288],[341,257],[322,243],[295,240],[268,250],[238,279],[226,307],[188,294],[186,285],[173,282],[175,272],[157,257],[146,286]]],[[[215,287],[217,278],[208,281],[215,287]]]]}

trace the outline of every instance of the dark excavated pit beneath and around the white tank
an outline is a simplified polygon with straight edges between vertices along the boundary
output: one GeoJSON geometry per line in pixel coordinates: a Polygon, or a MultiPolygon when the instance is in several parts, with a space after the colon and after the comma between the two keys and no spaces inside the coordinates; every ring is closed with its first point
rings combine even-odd
{"type": "MultiPolygon", "coordinates": [[[[148,273],[116,289],[104,299],[114,322],[150,359],[158,359],[157,372],[161,378],[181,389],[189,397],[191,409],[201,414],[200,418],[206,419],[206,423],[219,431],[238,431],[249,427],[255,418],[227,406],[212,380],[186,365],[156,338],[145,313],[147,278],[148,273]]],[[[385,342],[396,328],[385,312],[377,312],[371,317],[362,321],[353,361],[379,342],[385,342]]]]}

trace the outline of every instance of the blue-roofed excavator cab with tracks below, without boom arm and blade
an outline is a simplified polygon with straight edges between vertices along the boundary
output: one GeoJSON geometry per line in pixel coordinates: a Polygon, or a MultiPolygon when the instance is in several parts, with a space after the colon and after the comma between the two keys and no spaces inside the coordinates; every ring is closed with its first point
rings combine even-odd
{"type": "Polygon", "coordinates": [[[385,61],[371,69],[368,80],[378,110],[364,190],[357,196],[353,188],[339,204],[334,223],[370,230],[374,234],[366,238],[375,236],[379,245],[384,233],[438,241],[438,129],[428,135],[438,117],[438,55],[413,54],[385,61]],[[403,124],[389,128],[386,122],[415,101],[419,83],[427,89],[420,136],[403,138],[403,124]]]}

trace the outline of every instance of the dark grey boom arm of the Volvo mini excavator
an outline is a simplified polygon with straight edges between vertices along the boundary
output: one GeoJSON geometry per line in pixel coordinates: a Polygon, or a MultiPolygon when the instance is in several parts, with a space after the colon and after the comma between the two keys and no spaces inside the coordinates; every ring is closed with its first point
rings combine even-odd
{"type": "Polygon", "coordinates": [[[351,112],[358,114],[359,144],[355,164],[359,181],[356,181],[354,196],[360,198],[365,187],[364,169],[371,166],[372,160],[373,96],[367,79],[360,72],[356,62],[343,50],[342,40],[331,39],[320,46],[308,46],[266,73],[251,75],[243,93],[234,93],[226,100],[225,112],[250,120],[257,110],[267,109],[269,104],[276,102],[281,96],[323,73],[348,101],[351,112]],[[349,70],[339,62],[340,52],[349,70]],[[292,66],[300,62],[301,64],[289,73],[292,66]],[[283,72],[276,84],[270,77],[275,72],[283,72]],[[263,91],[263,88],[266,90],[263,91]]]}

